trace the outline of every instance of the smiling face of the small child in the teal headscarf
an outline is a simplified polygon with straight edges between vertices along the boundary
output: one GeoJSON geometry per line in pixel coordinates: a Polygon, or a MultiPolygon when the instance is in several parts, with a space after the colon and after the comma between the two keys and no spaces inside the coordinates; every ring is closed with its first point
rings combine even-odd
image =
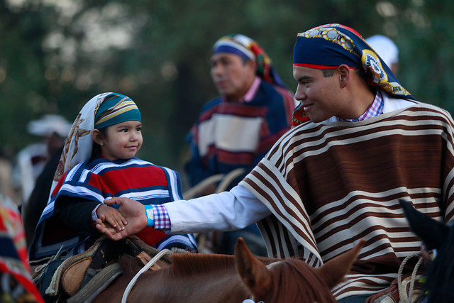
{"type": "Polygon", "coordinates": [[[139,121],[121,122],[106,128],[101,153],[111,161],[133,158],[140,150],[142,142],[142,123],[139,121]]]}

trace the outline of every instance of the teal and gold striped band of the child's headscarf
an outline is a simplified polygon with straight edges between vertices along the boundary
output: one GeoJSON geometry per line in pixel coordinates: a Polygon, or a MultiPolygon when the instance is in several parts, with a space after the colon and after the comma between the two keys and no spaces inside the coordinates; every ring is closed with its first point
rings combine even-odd
{"type": "Polygon", "coordinates": [[[94,128],[97,129],[125,121],[142,121],[137,105],[122,94],[108,94],[95,111],[94,128]]]}

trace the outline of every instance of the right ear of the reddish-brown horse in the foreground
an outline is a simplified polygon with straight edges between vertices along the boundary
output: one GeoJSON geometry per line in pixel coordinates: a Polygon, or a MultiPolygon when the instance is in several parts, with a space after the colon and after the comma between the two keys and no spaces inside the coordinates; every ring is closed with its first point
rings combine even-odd
{"type": "Polygon", "coordinates": [[[325,281],[330,289],[343,280],[343,277],[347,274],[348,270],[350,270],[353,262],[355,262],[356,256],[360,252],[364,242],[365,240],[361,239],[354,248],[341,255],[337,255],[321,267],[314,269],[321,280],[325,281]]]}

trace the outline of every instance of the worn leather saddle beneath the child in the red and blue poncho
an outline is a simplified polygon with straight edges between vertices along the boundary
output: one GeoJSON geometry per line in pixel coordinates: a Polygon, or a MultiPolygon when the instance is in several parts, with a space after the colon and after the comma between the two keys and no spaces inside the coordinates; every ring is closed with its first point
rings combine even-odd
{"type": "MultiPolygon", "coordinates": [[[[145,265],[157,253],[159,250],[137,236],[111,241],[103,235],[84,253],[61,263],[45,294],[67,302],[91,302],[121,274],[119,260],[123,255],[138,258],[145,265]]],[[[171,263],[170,256],[165,255],[151,269],[157,270],[171,263]]]]}

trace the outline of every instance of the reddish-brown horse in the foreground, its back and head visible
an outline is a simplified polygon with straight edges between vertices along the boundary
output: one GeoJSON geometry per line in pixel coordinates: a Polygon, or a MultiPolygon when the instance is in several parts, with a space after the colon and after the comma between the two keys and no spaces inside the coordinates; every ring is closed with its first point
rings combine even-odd
{"type": "MultiPolygon", "coordinates": [[[[363,242],[320,268],[297,258],[255,257],[242,238],[234,256],[173,254],[170,267],[140,276],[128,302],[336,302],[330,289],[348,272],[363,242]]],[[[136,259],[123,258],[121,263],[123,275],[94,302],[121,302],[140,270],[136,259]]]]}

